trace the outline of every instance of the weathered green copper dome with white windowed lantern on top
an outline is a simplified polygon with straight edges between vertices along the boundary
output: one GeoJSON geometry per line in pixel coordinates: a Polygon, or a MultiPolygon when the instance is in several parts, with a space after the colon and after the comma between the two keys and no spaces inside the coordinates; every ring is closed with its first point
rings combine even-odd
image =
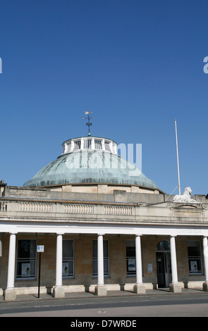
{"type": "Polygon", "coordinates": [[[63,154],[25,182],[25,187],[75,183],[141,185],[158,189],[134,165],[116,152],[110,139],[81,137],[63,142],[63,154]]]}

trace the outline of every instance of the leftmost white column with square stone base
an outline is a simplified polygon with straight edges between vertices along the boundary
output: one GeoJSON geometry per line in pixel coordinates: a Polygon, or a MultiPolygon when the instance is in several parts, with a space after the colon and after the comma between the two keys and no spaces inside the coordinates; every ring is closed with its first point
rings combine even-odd
{"type": "Polygon", "coordinates": [[[16,262],[16,232],[12,232],[10,234],[10,240],[9,240],[7,287],[6,290],[4,291],[4,299],[6,301],[16,299],[16,289],[14,287],[15,262],[16,262]]]}

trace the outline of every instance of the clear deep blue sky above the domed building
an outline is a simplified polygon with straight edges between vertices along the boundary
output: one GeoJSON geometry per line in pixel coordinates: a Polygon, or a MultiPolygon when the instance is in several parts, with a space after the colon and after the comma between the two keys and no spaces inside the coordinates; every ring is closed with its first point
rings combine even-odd
{"type": "Polygon", "coordinates": [[[207,0],[1,0],[0,180],[22,186],[87,135],[142,144],[170,194],[207,194],[207,0]],[[178,190],[176,190],[178,193],[178,190]]]}

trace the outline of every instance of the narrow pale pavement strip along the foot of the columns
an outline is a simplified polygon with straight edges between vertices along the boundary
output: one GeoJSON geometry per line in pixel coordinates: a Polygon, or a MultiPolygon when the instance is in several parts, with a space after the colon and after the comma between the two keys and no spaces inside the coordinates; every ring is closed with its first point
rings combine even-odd
{"type": "MultiPolygon", "coordinates": [[[[208,292],[204,292],[202,288],[195,288],[195,289],[182,289],[181,294],[207,294],[208,292]]],[[[108,291],[107,296],[109,297],[119,297],[119,296],[147,296],[147,295],[175,295],[175,293],[172,293],[169,291],[169,288],[165,289],[147,289],[146,294],[135,294],[134,292],[130,291],[108,291]]],[[[59,298],[53,298],[51,294],[42,293],[39,294],[39,298],[37,298],[37,294],[18,294],[15,301],[38,301],[38,300],[47,300],[47,299],[54,299],[59,300],[59,298]]],[[[65,299],[84,299],[84,298],[90,298],[90,297],[96,297],[96,295],[93,292],[71,292],[65,294],[65,299]]],[[[97,296],[99,297],[99,296],[97,296]]],[[[64,298],[61,298],[64,299],[64,298]]],[[[13,302],[15,302],[13,301],[13,302]]],[[[0,296],[0,304],[3,304],[4,302],[4,296],[0,296]]]]}

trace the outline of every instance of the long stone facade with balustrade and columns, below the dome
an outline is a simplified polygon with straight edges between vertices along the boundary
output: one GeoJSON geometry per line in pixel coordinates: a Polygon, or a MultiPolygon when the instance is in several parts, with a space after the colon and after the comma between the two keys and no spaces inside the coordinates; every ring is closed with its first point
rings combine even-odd
{"type": "Polygon", "coordinates": [[[5,299],[37,293],[39,254],[25,258],[21,241],[44,245],[41,292],[54,296],[74,291],[106,295],[111,289],[144,294],[158,286],[173,292],[207,290],[206,196],[181,204],[154,189],[152,194],[124,192],[122,186],[107,194],[63,187],[1,189],[0,291],[5,299]],[[73,247],[71,256],[62,249],[64,241],[73,247]],[[165,249],[159,248],[161,242],[165,249]],[[32,277],[25,271],[30,265],[32,277]],[[67,277],[64,266],[71,268],[67,277]]]}

